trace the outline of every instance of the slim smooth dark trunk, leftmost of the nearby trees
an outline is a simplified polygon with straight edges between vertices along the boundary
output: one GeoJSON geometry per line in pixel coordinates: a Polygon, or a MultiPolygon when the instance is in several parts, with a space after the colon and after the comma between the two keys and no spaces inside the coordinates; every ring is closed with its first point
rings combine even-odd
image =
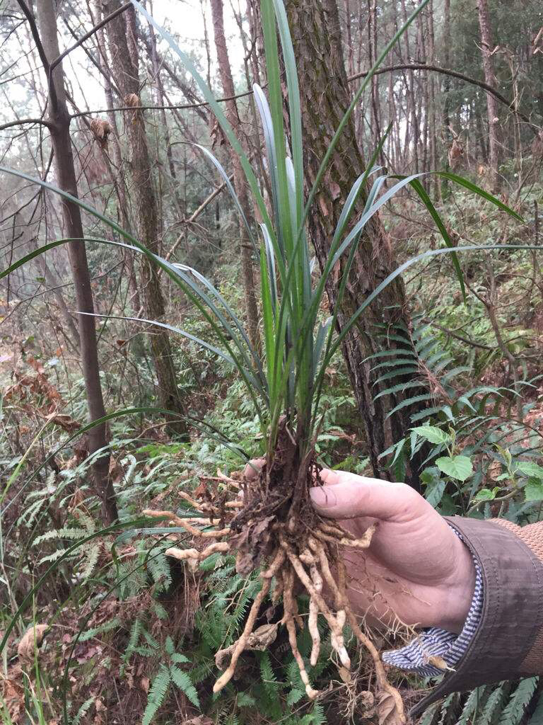
{"type": "MultiPolygon", "coordinates": [[[[59,56],[59,42],[56,36],[56,14],[54,0],[38,0],[38,22],[41,32],[41,43],[46,58],[51,62],[59,56]]],[[[75,176],[74,159],[72,155],[72,140],[70,138],[70,114],[66,105],[64,89],[64,72],[62,64],[56,66],[51,78],[48,69],[46,73],[49,81],[49,121],[51,126],[51,143],[54,149],[54,167],[56,181],[63,191],[77,196],[77,181],[75,176]]],[[[65,233],[74,239],[83,239],[83,223],[80,207],[73,202],[62,199],[62,216],[65,233]]],[[[98,347],[96,344],[93,294],[90,288],[90,276],[87,264],[87,252],[83,241],[72,241],[68,245],[70,267],[75,281],[75,298],[77,310],[88,312],[78,315],[81,362],[83,365],[83,378],[85,379],[85,392],[87,394],[88,417],[90,422],[103,418],[106,415],[104,397],[100,383],[98,368],[98,347]]],[[[91,428],[87,434],[89,454],[106,447],[108,434],[105,423],[91,428]]],[[[117,520],[117,503],[113,484],[109,478],[109,452],[102,453],[93,463],[92,473],[96,492],[102,502],[102,519],[104,524],[117,520]]]]}

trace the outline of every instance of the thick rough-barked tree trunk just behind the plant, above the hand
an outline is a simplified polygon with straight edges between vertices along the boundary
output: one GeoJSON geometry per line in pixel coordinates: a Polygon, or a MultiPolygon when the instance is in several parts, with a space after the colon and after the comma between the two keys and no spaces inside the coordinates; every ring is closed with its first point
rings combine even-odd
{"type": "MultiPolygon", "coordinates": [[[[292,43],[298,59],[306,181],[311,185],[327,146],[350,103],[350,91],[343,60],[336,0],[287,0],[286,7],[292,43]],[[330,83],[330,78],[334,79],[334,83],[330,83]]],[[[363,168],[363,155],[356,141],[355,126],[351,118],[335,147],[332,162],[309,217],[310,238],[321,268],[327,260],[329,243],[342,204],[363,168]]],[[[364,202],[365,199],[361,199],[358,204],[359,214],[364,202]]],[[[366,225],[366,233],[355,257],[339,315],[339,330],[393,268],[395,264],[391,259],[387,234],[379,218],[374,217],[366,225]]],[[[335,305],[335,281],[330,280],[327,284],[327,294],[330,304],[335,305]]],[[[387,381],[386,385],[374,385],[378,375],[371,368],[376,363],[366,358],[383,348],[382,339],[377,339],[376,336],[377,325],[387,326],[397,322],[409,325],[405,308],[403,284],[397,280],[384,289],[379,300],[366,310],[358,326],[346,336],[342,346],[363,420],[374,474],[389,480],[394,476],[387,470],[385,460],[379,459],[379,454],[392,441],[398,441],[407,434],[411,427],[410,414],[413,413],[413,407],[405,407],[387,418],[392,408],[403,399],[403,395],[397,393],[377,400],[375,397],[385,387],[405,383],[408,378],[402,376],[394,382],[387,381]]],[[[412,462],[413,470],[407,471],[405,477],[405,481],[417,489],[418,463],[420,462],[415,460],[412,462]]]]}

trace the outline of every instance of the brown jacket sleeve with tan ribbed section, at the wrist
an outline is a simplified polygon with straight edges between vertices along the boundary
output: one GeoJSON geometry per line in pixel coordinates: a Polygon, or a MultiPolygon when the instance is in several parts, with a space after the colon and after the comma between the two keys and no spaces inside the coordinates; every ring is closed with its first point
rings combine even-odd
{"type": "Polygon", "coordinates": [[[543,522],[447,518],[483,581],[479,626],[455,672],[419,703],[412,716],[451,692],[543,674],[543,522]]]}

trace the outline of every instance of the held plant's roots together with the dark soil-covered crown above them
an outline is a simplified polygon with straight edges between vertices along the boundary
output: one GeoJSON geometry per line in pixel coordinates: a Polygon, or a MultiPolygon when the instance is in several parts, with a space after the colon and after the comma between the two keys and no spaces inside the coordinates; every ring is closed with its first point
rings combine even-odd
{"type": "MultiPolygon", "coordinates": [[[[329,628],[332,657],[338,668],[350,669],[344,641],[346,625],[366,648],[376,676],[379,722],[400,725],[405,723],[400,693],[388,682],[379,650],[358,625],[347,595],[348,576],[343,551],[345,548],[364,550],[369,547],[374,526],[363,537],[356,538],[337,523],[319,517],[309,497],[309,488],[321,483],[319,471],[319,465],[312,457],[300,460],[295,439],[283,421],[271,461],[253,477],[243,477],[240,485],[219,471],[215,480],[224,484],[222,492],[213,494],[204,483],[198,486],[194,496],[179,492],[198,511],[198,516],[180,518],[169,511],[153,510],[143,513],[168,518],[173,526],[179,526],[195,537],[198,548],[195,545],[194,548],[166,550],[167,555],[186,561],[193,569],[216,552],[235,553],[236,569],[242,575],[262,568],[261,589],[249,610],[242,634],[233,645],[216,653],[217,666],[221,669],[226,666],[226,669],[216,680],[214,692],[230,682],[245,650],[266,649],[274,641],[277,627],[285,626],[306,695],[314,700],[319,691],[311,685],[296,636],[307,626],[312,641],[310,664],[315,666],[321,650],[317,626],[321,616],[329,628]],[[240,489],[243,489],[243,502],[240,489]],[[212,529],[209,529],[210,523],[212,529]],[[207,543],[210,539],[213,542],[207,543]],[[203,547],[202,542],[206,544],[203,547]],[[306,621],[298,611],[295,593],[306,593],[309,597],[306,621]],[[273,605],[282,602],[282,619],[276,624],[256,627],[258,613],[268,596],[273,605]]],[[[178,539],[174,534],[169,538],[178,539]]]]}

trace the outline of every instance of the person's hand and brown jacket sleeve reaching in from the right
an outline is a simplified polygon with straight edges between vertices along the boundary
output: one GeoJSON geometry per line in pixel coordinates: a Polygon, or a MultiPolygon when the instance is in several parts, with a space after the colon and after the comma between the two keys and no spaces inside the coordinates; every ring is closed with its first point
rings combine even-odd
{"type": "Polygon", "coordinates": [[[386,618],[395,609],[406,624],[458,632],[473,598],[473,562],[480,568],[479,624],[424,707],[456,690],[543,672],[543,523],[445,519],[405,484],[333,471],[321,477],[324,486],[311,491],[321,515],[357,533],[378,522],[369,550],[346,555],[351,576],[366,578],[365,587],[351,587],[359,614],[366,608],[386,618]]]}

